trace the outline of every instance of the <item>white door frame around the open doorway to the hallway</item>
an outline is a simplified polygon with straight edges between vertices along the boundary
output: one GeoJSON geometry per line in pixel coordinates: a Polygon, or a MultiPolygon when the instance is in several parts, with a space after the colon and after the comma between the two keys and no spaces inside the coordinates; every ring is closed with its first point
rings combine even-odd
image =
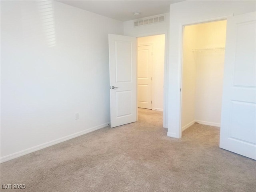
{"type": "MultiPolygon", "coordinates": [[[[136,37],[136,84],[138,84],[138,63],[137,63],[137,53],[138,53],[138,38],[139,37],[148,37],[148,36],[154,36],[154,35],[163,35],[164,34],[164,98],[163,98],[163,127],[168,128],[168,125],[166,124],[166,119],[168,118],[168,103],[167,100],[167,94],[168,94],[168,88],[166,87],[168,85],[168,78],[167,78],[167,63],[168,63],[168,57],[167,53],[168,50],[168,43],[169,43],[169,31],[168,30],[160,30],[156,32],[148,32],[143,34],[136,34],[134,37],[136,37]]],[[[136,108],[137,108],[137,120],[138,120],[138,86],[136,86],[136,108]]]]}

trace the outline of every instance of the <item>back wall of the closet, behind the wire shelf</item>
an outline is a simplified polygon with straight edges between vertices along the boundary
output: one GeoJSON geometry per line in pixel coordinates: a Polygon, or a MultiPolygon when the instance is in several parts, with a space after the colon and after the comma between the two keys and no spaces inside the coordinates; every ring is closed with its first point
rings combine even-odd
{"type": "MultiPolygon", "coordinates": [[[[222,48],[226,41],[226,20],[198,25],[196,48],[222,48]]],[[[196,122],[220,126],[224,49],[195,51],[196,122]]]]}

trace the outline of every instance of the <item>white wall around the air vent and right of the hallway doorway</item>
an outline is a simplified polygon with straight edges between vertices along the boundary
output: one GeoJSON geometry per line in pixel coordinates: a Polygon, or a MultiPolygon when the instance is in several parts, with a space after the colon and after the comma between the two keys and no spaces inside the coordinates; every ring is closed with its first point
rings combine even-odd
{"type": "Polygon", "coordinates": [[[159,34],[165,34],[165,66],[164,66],[164,127],[168,127],[168,45],[169,45],[169,13],[164,14],[165,15],[165,22],[160,22],[156,24],[149,24],[145,26],[139,26],[134,27],[134,21],[130,20],[124,22],[124,35],[126,36],[134,36],[134,37],[144,37],[144,36],[152,36],[152,35],[159,35],[159,34]]]}

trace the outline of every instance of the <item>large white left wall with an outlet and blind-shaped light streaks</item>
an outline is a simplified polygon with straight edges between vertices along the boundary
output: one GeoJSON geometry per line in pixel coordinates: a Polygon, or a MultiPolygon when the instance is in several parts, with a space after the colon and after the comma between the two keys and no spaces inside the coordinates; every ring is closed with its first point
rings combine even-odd
{"type": "Polygon", "coordinates": [[[44,16],[44,7],[1,1],[2,161],[110,121],[108,34],[123,34],[123,23],[60,2],[44,16]]]}

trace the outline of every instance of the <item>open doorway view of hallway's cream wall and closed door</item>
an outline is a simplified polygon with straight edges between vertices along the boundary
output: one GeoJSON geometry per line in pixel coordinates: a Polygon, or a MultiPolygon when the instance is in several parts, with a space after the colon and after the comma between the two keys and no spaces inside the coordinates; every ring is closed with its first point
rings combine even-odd
{"type": "Polygon", "coordinates": [[[165,34],[137,38],[138,108],[164,108],[165,34]]]}

